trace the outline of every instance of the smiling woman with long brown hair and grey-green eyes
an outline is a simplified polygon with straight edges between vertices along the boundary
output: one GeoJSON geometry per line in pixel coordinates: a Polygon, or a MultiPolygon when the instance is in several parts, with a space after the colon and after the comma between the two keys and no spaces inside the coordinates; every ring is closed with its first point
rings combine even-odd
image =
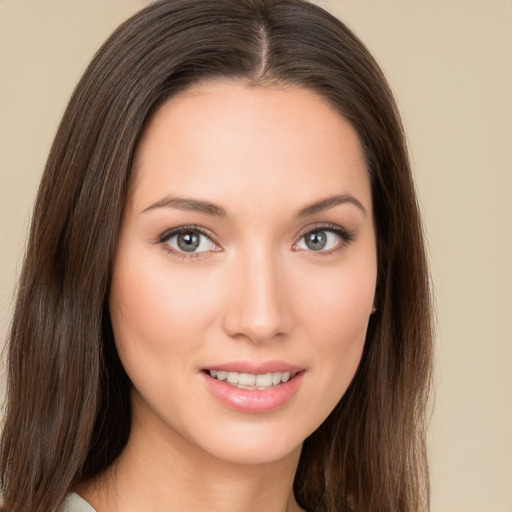
{"type": "Polygon", "coordinates": [[[361,42],[302,0],[125,22],[35,206],[4,510],[426,510],[430,366],[404,135],[361,42]]]}

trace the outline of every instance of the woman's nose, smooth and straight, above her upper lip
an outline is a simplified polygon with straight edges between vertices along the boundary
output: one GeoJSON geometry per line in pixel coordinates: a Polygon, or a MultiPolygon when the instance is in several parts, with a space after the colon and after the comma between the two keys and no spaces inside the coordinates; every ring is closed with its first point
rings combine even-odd
{"type": "Polygon", "coordinates": [[[263,343],[290,332],[291,304],[282,270],[276,255],[265,249],[233,263],[223,316],[229,336],[263,343]]]}

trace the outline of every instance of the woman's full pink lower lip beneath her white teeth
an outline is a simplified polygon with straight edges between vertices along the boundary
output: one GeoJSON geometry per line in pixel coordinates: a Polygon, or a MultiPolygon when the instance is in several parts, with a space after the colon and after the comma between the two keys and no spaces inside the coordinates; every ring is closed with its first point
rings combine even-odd
{"type": "Polygon", "coordinates": [[[286,405],[299,390],[304,371],[269,389],[239,389],[202,372],[208,389],[222,404],[238,412],[258,414],[272,412],[286,405]]]}

